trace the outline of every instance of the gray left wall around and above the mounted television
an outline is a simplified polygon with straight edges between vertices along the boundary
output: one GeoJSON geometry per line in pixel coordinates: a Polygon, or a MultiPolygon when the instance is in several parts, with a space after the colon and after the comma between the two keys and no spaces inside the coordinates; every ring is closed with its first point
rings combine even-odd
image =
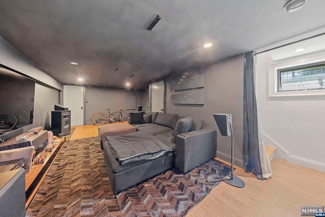
{"type": "Polygon", "coordinates": [[[16,132],[9,133],[5,137],[6,140],[16,136],[15,133],[25,133],[34,127],[44,127],[45,129],[48,129],[49,123],[51,122],[51,111],[54,110],[54,104],[58,104],[59,102],[59,90],[63,89],[62,84],[37,68],[34,63],[1,37],[0,63],[54,88],[52,89],[41,84],[36,84],[33,124],[28,125],[21,130],[17,130],[16,132]]]}

